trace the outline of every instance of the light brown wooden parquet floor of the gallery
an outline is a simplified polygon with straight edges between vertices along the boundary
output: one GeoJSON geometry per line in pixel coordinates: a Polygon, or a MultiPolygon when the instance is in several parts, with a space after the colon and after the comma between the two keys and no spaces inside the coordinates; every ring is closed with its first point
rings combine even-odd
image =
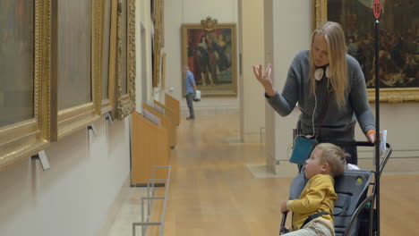
{"type": "MultiPolygon", "coordinates": [[[[228,143],[239,137],[238,121],[238,114],[181,121],[164,235],[278,235],[291,178],[253,178],[245,164],[264,163],[263,146],[228,143]]],[[[418,235],[417,181],[419,175],[382,176],[381,235],[418,235]]]]}

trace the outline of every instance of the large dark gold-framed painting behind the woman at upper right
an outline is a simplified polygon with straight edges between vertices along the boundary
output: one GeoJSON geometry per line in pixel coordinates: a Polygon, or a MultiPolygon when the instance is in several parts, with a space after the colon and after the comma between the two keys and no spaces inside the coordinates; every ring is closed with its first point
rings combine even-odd
{"type": "MultiPolygon", "coordinates": [[[[419,101],[419,2],[381,0],[381,101],[419,101]]],[[[316,0],[316,27],[338,22],[346,35],[347,53],[363,68],[370,101],[375,99],[375,42],[372,0],[316,0]]]]}

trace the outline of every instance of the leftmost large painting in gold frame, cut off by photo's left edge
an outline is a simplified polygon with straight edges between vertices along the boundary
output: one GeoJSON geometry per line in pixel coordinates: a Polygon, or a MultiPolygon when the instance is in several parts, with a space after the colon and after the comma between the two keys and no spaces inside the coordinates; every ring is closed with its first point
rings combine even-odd
{"type": "Polygon", "coordinates": [[[51,1],[0,1],[0,171],[50,141],[51,1]]]}

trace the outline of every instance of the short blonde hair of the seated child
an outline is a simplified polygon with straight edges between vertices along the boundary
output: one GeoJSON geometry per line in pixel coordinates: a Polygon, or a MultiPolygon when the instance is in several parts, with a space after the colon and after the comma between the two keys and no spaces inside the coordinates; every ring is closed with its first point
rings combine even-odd
{"type": "Polygon", "coordinates": [[[331,143],[321,143],[316,148],[321,149],[320,162],[329,164],[329,174],[332,177],[337,177],[345,172],[346,157],[349,155],[342,148],[331,143]]]}

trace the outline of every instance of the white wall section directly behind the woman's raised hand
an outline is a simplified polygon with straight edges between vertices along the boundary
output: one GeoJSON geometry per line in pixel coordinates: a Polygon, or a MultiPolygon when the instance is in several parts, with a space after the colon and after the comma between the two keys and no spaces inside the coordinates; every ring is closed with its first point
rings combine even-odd
{"type": "MultiPolygon", "coordinates": [[[[274,87],[281,92],[294,56],[301,50],[309,49],[313,19],[312,3],[305,0],[269,2],[270,5],[265,11],[272,14],[272,22],[268,32],[265,32],[265,37],[268,35],[271,38],[265,39],[267,42],[265,61],[272,63],[274,87]]],[[[266,109],[268,109],[266,111],[267,159],[268,163],[272,164],[271,159],[287,159],[287,148],[292,141],[292,129],[295,128],[299,111],[295,109],[292,114],[281,117],[272,112],[269,105],[266,109]],[[269,132],[272,128],[274,131],[269,132]]]]}

